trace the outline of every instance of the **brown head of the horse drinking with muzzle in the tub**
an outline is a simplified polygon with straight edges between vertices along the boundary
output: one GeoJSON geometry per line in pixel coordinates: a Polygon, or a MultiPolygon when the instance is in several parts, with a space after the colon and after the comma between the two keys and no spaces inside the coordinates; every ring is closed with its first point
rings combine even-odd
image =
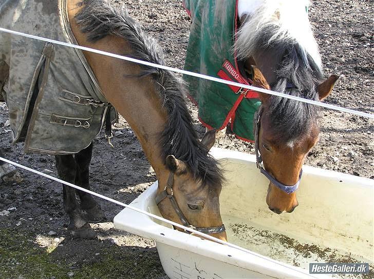
{"type": "MultiPolygon", "coordinates": [[[[204,135],[201,144],[206,148],[205,155],[208,155],[214,141],[215,130],[204,135]]],[[[221,177],[215,184],[207,180],[203,182],[201,178],[196,178],[184,162],[173,155],[166,157],[166,167],[169,170],[167,182],[165,185],[159,185],[156,196],[156,203],[162,216],[227,241],[225,226],[219,212],[221,177]]]]}

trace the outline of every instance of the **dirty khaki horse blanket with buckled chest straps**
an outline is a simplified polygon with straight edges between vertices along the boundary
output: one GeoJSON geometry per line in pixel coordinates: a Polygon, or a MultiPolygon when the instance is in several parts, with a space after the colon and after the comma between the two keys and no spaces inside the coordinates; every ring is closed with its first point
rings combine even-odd
{"type": "MultiPolygon", "coordinates": [[[[2,0],[0,26],[77,44],[68,0],[2,0]]],[[[0,95],[25,152],[77,153],[110,109],[81,50],[0,32],[0,95]]]]}

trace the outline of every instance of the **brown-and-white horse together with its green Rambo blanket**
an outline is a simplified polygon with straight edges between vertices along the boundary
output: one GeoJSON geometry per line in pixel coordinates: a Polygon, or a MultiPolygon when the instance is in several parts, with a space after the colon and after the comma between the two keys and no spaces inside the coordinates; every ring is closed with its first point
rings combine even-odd
{"type": "MultiPolygon", "coordinates": [[[[308,1],[186,0],[184,6],[191,17],[186,70],[314,101],[330,94],[338,76],[323,78],[321,56],[308,19],[308,1]]],[[[266,197],[269,209],[277,214],[292,212],[298,205],[295,191],[302,166],[319,140],[318,107],[184,78],[192,87],[190,91],[196,91],[199,118],[205,127],[223,129],[231,122],[237,137],[254,141],[257,167],[270,180],[266,197]],[[212,94],[223,90],[228,91],[221,93],[226,107],[220,109],[227,110],[222,120],[215,122],[220,109],[218,98],[212,94]],[[230,98],[231,103],[227,101],[230,98]],[[205,116],[212,104],[213,112],[205,116]],[[244,111],[241,115],[240,109],[244,111]],[[252,137],[240,136],[240,132],[252,137]]]]}

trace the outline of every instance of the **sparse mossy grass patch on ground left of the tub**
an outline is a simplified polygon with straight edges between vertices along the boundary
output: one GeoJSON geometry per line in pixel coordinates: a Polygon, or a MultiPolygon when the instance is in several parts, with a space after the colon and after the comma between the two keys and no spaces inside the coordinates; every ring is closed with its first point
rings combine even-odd
{"type": "MultiPolygon", "coordinates": [[[[139,254],[127,247],[113,245],[103,247],[99,257],[91,256],[89,261],[80,262],[73,254],[59,255],[58,249],[50,253],[48,248],[39,247],[34,239],[33,235],[0,229],[0,278],[65,279],[69,278],[68,272],[74,273],[71,278],[79,279],[156,279],[164,275],[157,255],[152,252],[139,254]],[[74,269],[69,269],[70,266],[74,269]]],[[[85,253],[84,245],[77,251],[85,253]]]]}

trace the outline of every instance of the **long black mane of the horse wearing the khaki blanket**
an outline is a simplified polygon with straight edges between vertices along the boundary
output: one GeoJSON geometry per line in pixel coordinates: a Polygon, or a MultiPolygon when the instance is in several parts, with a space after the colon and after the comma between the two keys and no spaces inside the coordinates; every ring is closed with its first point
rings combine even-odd
{"type": "MultiPolygon", "coordinates": [[[[75,18],[89,41],[95,42],[107,35],[121,37],[132,46],[132,57],[164,65],[163,52],[156,40],[147,36],[124,8],[114,10],[106,0],[84,0],[83,5],[75,18]]],[[[141,68],[140,76],[153,78],[168,114],[167,125],[160,132],[164,160],[173,154],[189,167],[195,178],[209,185],[221,186],[223,178],[218,162],[207,155],[207,149],[197,139],[185,104],[183,94],[186,89],[181,79],[170,71],[145,65],[141,68]]]]}

